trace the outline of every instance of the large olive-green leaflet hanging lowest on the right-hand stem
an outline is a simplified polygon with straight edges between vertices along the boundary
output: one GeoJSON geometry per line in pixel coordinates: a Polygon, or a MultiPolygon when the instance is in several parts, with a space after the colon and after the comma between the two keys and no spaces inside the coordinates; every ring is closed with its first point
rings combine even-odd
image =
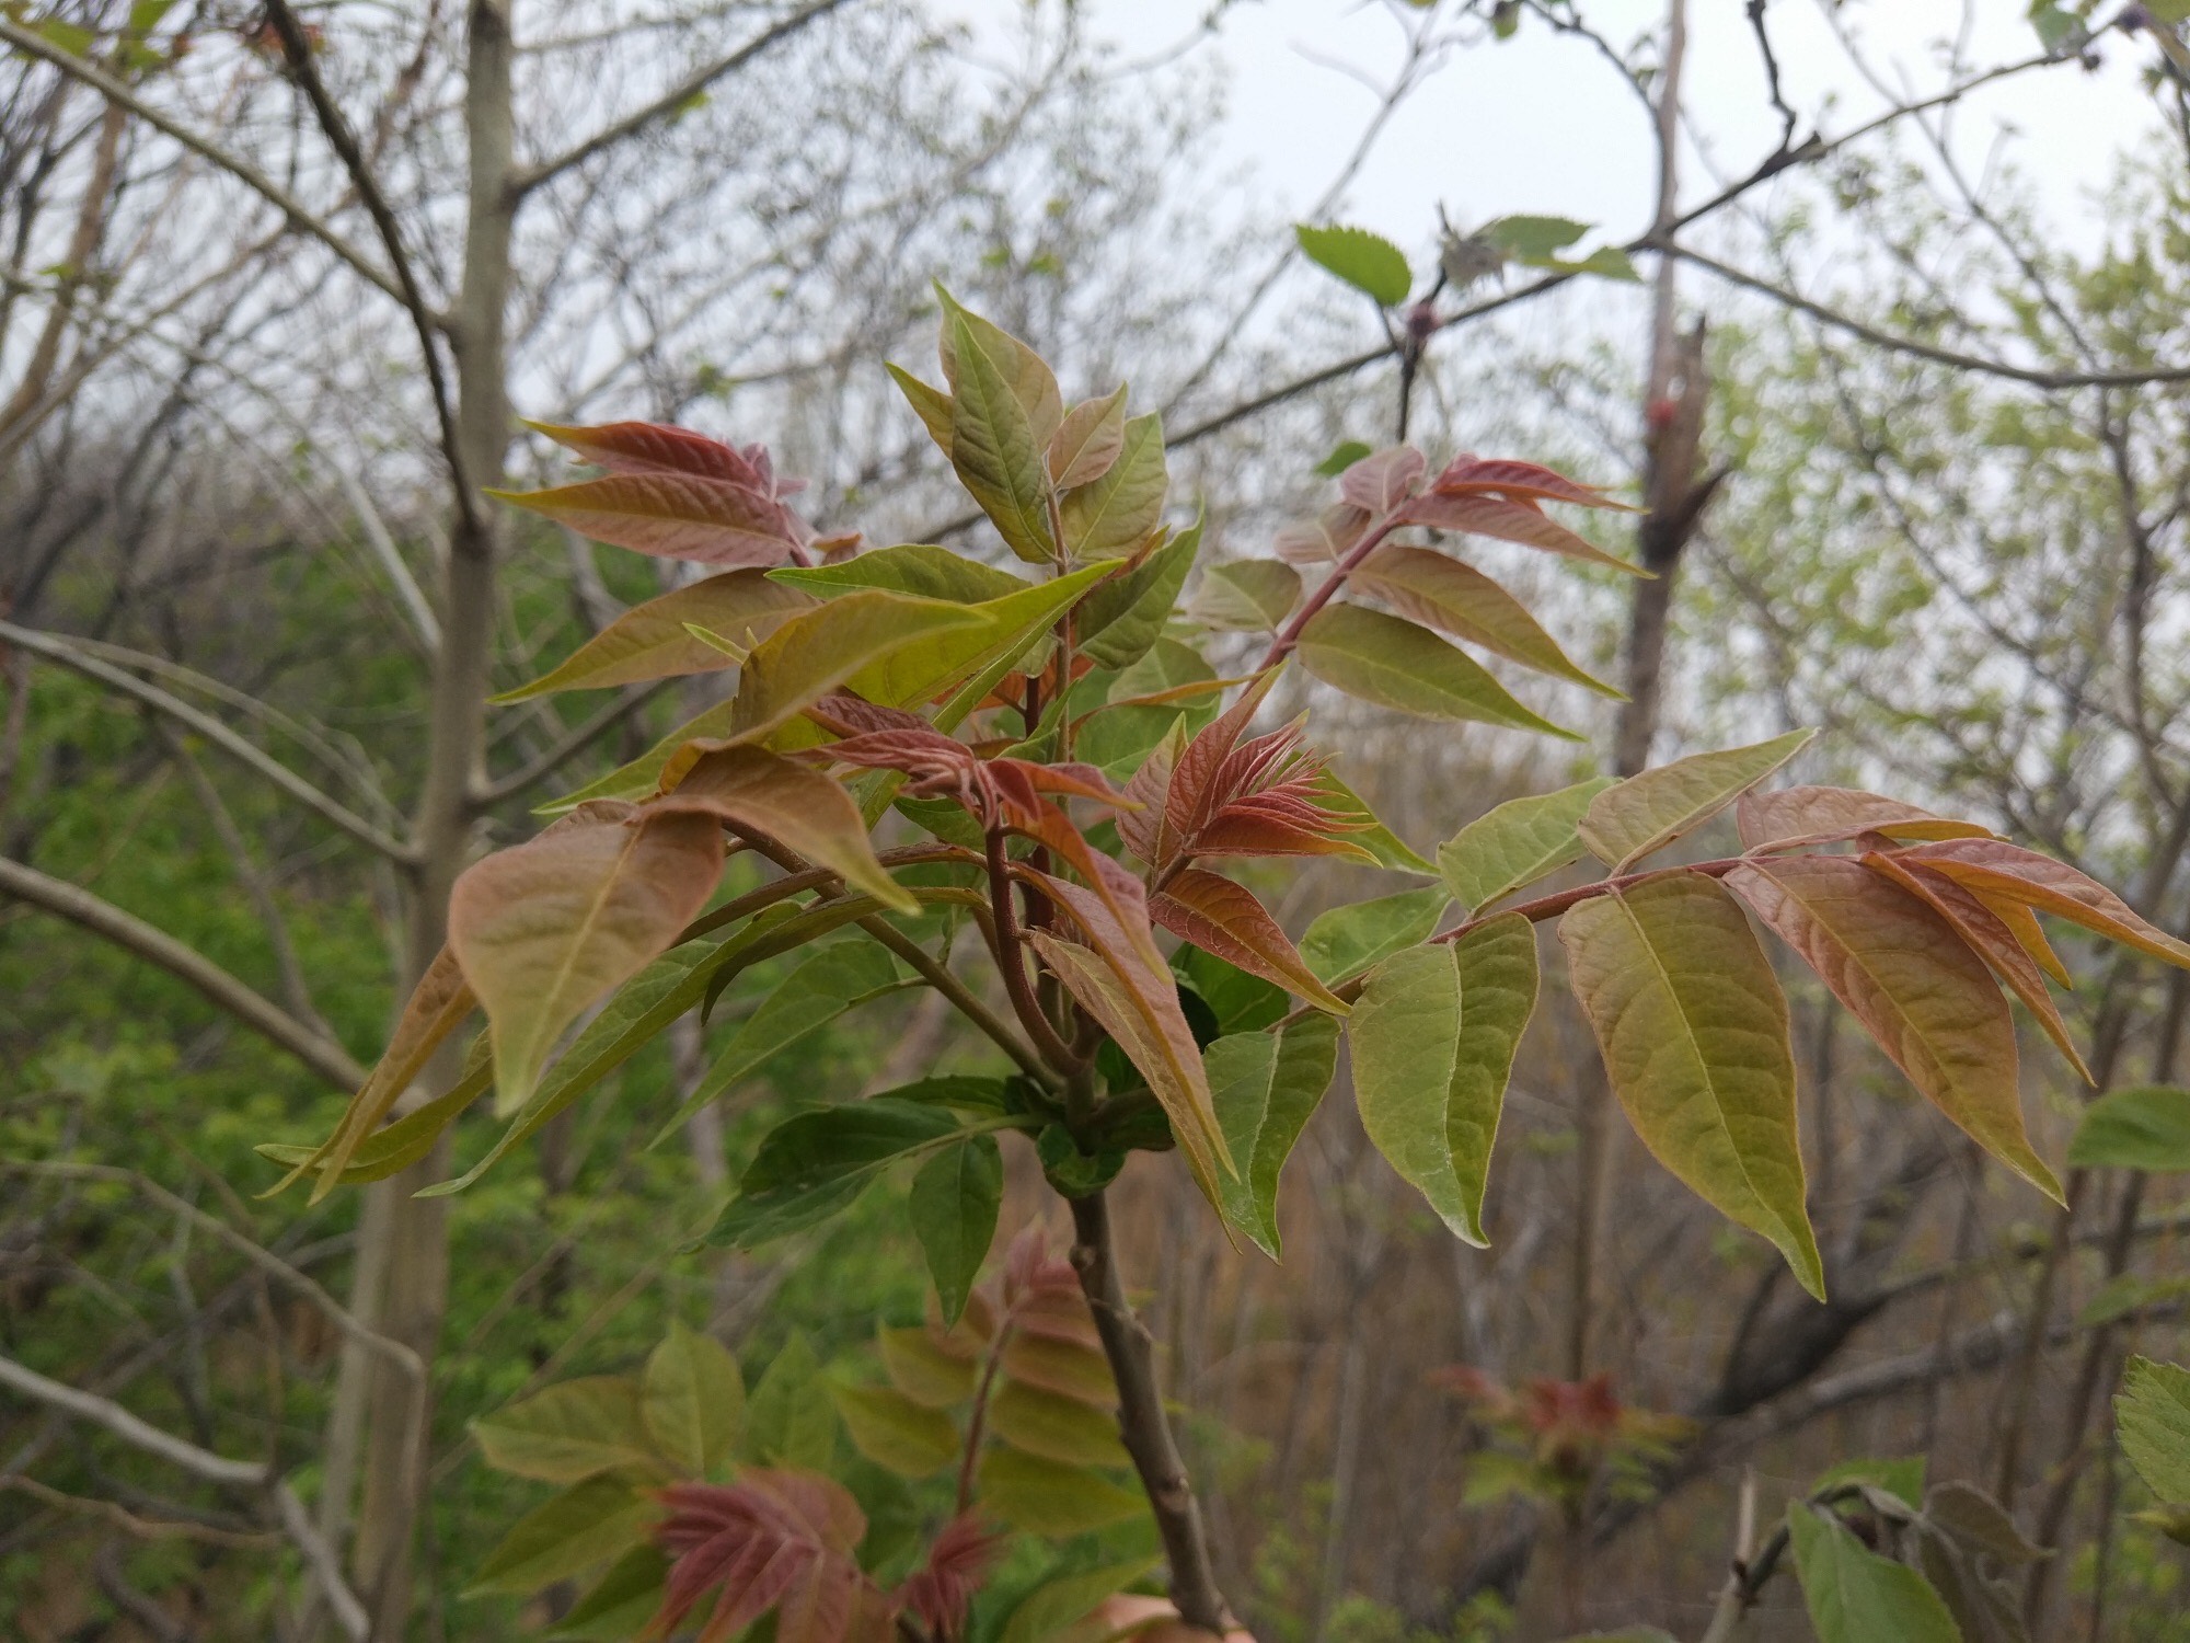
{"type": "Polygon", "coordinates": [[[1741,907],[1697,874],[1647,878],[1572,907],[1559,942],[1636,1135],[1719,1214],[1772,1240],[1824,1299],[1802,1205],[1787,999],[1741,907]]]}

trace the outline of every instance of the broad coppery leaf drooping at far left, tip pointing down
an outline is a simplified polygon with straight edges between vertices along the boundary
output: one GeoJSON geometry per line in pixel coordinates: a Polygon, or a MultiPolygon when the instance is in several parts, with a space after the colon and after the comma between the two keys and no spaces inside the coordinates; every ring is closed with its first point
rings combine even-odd
{"type": "Polygon", "coordinates": [[[495,1115],[517,1113],[583,1010],[659,957],[723,876],[707,815],[580,811],[471,865],[449,894],[449,949],[495,1043],[495,1115]]]}

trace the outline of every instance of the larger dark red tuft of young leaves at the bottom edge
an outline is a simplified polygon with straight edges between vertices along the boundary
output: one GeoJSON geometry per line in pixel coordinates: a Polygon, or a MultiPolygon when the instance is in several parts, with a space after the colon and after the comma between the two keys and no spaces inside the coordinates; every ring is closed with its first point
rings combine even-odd
{"type": "Polygon", "coordinates": [[[887,1639],[889,1608],[852,1558],[867,1518],[841,1483],[747,1468],[729,1487],[679,1483],[661,1501],[670,1516],[655,1540],[672,1562],[646,1636],[670,1636],[721,1590],[701,1643],[727,1643],[771,1608],[780,1643],[887,1639]]]}

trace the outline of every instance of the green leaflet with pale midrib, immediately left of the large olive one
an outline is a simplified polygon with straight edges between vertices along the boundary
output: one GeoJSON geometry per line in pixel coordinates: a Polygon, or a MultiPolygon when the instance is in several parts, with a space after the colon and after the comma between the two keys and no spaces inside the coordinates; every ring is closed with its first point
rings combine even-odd
{"type": "Polygon", "coordinates": [[[1384,960],[1347,1023],[1362,1128],[1476,1246],[1489,1242],[1483,1190],[1535,981],[1535,927],[1496,918],[1465,940],[1384,960]]]}

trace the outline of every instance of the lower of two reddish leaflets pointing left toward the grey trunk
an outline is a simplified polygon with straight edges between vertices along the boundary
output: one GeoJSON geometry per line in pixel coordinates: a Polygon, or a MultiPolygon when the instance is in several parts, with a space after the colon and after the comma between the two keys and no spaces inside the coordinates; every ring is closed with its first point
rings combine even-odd
{"type": "Polygon", "coordinates": [[[788,508],[727,480],[611,473],[552,491],[488,491],[583,537],[703,565],[782,565],[799,545],[788,508]]]}

